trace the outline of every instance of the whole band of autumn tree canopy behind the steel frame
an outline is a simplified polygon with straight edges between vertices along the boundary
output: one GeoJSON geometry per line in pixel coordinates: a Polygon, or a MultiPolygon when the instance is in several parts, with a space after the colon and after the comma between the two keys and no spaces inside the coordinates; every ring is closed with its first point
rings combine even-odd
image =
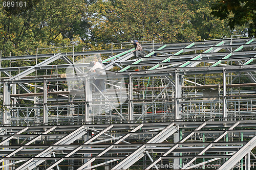
{"type": "Polygon", "coordinates": [[[210,5],[214,1],[27,0],[26,7],[0,6],[0,49],[5,56],[10,52],[35,54],[36,48],[73,44],[77,50],[102,50],[111,42],[199,41],[247,31],[231,25],[230,29],[226,27],[227,19],[211,15],[210,5]]]}

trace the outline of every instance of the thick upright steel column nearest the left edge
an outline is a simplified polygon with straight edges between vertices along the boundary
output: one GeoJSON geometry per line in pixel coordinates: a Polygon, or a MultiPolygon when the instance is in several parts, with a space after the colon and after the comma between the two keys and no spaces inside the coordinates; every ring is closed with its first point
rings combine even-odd
{"type": "Polygon", "coordinates": [[[3,125],[10,124],[11,84],[4,81],[3,125]]]}

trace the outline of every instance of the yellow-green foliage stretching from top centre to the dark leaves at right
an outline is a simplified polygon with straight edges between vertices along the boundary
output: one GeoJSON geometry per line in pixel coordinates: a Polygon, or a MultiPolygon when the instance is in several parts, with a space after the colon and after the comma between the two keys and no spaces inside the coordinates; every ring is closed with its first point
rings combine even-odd
{"type": "Polygon", "coordinates": [[[93,41],[101,45],[132,39],[184,42],[227,38],[246,33],[246,27],[230,30],[227,19],[211,15],[210,1],[98,1],[89,7],[93,41]]]}

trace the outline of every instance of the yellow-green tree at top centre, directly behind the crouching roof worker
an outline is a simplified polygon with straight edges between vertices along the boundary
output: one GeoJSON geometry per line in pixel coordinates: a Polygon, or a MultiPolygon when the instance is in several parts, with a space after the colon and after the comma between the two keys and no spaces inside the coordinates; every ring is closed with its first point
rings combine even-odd
{"type": "Polygon", "coordinates": [[[110,0],[91,6],[93,38],[103,43],[133,39],[162,42],[199,40],[191,12],[181,0],[110,0]]]}

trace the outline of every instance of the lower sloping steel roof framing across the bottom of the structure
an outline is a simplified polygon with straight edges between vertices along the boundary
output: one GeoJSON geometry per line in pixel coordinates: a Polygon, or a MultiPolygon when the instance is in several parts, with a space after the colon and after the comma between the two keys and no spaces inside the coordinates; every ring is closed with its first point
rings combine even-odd
{"type": "MultiPolygon", "coordinates": [[[[13,145],[12,143],[10,143],[10,145],[2,145],[2,147],[9,148],[10,150],[6,150],[5,153],[0,152],[0,154],[5,154],[1,161],[11,160],[12,162],[1,167],[18,165],[17,169],[23,169],[25,167],[32,169],[39,166],[41,163],[50,161],[50,165],[46,164],[46,166],[47,169],[51,169],[57,165],[64,165],[65,163],[62,163],[64,160],[87,160],[87,163],[80,162],[78,169],[90,169],[109,164],[112,164],[112,169],[126,169],[136,164],[142,157],[148,157],[150,153],[164,153],[161,154],[160,157],[150,156],[153,163],[144,168],[150,169],[153,165],[159,167],[157,162],[160,160],[165,162],[164,160],[177,158],[182,160],[190,159],[189,162],[186,162],[187,165],[195,160],[197,160],[197,164],[195,165],[207,165],[208,163],[216,162],[220,159],[224,161],[228,158],[227,161],[221,164],[221,169],[222,167],[225,167],[223,169],[228,169],[228,167],[230,167],[229,162],[236,164],[255,147],[256,130],[251,128],[253,124],[256,124],[253,120],[240,120],[239,122],[163,122],[83,126],[37,126],[16,127],[13,129],[11,127],[2,127],[6,132],[12,130],[14,133],[1,135],[1,137],[7,137],[1,144],[7,141],[13,142],[11,139],[17,140],[18,138],[20,142],[24,141],[26,138],[28,141],[20,146],[13,145]],[[173,138],[172,134],[177,131],[176,126],[179,127],[179,131],[182,132],[182,134],[184,133],[184,137],[179,142],[170,140],[173,138]],[[243,128],[246,127],[250,130],[243,130],[243,128]],[[216,130],[210,130],[212,128],[216,130]],[[219,129],[219,131],[217,131],[217,129],[219,129]],[[92,131],[96,132],[96,134],[91,135],[92,131]],[[124,131],[127,133],[123,134],[124,131]],[[249,131],[250,133],[248,133],[249,131]],[[254,132],[254,135],[251,134],[251,132],[254,132]],[[244,138],[250,139],[248,141],[236,142],[225,139],[227,134],[238,135],[241,133],[243,133],[244,138]],[[199,138],[200,134],[205,134],[205,142],[202,142],[199,138]],[[147,139],[144,143],[134,143],[133,140],[137,140],[134,137],[138,135],[141,137],[141,140],[146,139],[148,135],[153,137],[147,139]],[[83,136],[88,136],[89,138],[83,142],[81,140],[83,136]],[[108,138],[111,140],[105,140],[108,138]],[[45,139],[49,142],[51,141],[50,143],[54,142],[54,144],[33,144],[34,142],[38,143],[45,139]],[[164,142],[165,139],[168,139],[168,142],[164,142]],[[191,141],[191,139],[193,139],[194,142],[191,141]],[[77,143],[78,140],[80,140],[80,144],[77,143]],[[125,140],[130,142],[124,143],[125,140]],[[173,153],[177,152],[182,153],[182,155],[173,156],[173,153]],[[218,156],[211,154],[216,152],[220,154],[218,154],[218,156]],[[84,154],[90,153],[92,154],[91,157],[83,156],[84,154]],[[30,158],[31,156],[32,158],[30,158]],[[207,160],[200,163],[202,158],[207,160]],[[117,163],[118,160],[119,163],[117,163]]],[[[236,138],[239,139],[240,136],[236,138]]],[[[195,166],[187,166],[186,164],[182,167],[183,169],[189,169],[195,166]]]]}

